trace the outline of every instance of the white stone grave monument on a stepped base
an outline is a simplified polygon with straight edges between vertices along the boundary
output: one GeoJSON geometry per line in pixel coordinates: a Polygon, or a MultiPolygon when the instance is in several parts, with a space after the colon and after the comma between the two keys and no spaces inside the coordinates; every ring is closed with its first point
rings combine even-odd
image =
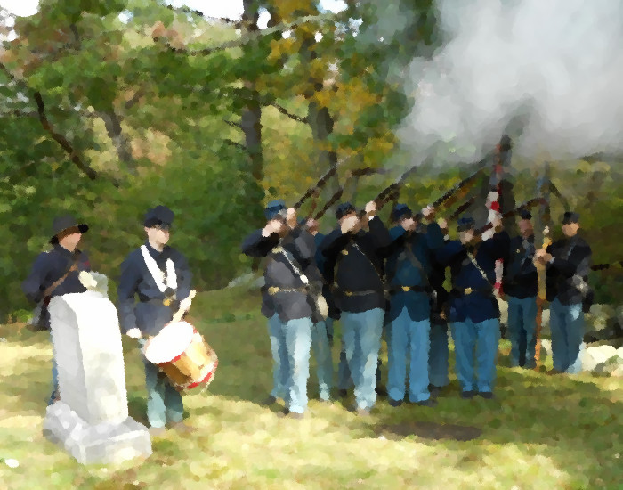
{"type": "Polygon", "coordinates": [[[53,298],[49,310],[61,401],[47,408],[45,436],[83,464],[149,456],[149,431],[127,412],[115,306],[88,290],[53,298]]]}

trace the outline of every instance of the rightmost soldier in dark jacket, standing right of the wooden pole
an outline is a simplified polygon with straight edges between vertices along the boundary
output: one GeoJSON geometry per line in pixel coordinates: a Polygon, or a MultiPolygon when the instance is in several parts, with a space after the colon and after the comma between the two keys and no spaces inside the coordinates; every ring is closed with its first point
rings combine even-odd
{"type": "Polygon", "coordinates": [[[546,252],[538,250],[537,260],[547,268],[547,300],[550,302],[549,326],[552,331],[554,372],[581,371],[579,351],[584,337],[584,313],[590,307],[588,287],[591,248],[578,234],[579,215],[566,212],[562,217],[565,237],[555,241],[546,252]]]}

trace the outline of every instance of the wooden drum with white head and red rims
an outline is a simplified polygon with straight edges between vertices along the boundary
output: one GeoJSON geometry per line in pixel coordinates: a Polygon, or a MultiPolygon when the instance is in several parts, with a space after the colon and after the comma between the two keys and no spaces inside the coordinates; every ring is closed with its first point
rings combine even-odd
{"type": "Polygon", "coordinates": [[[207,388],[218,366],[214,349],[187,322],[165,325],[147,341],[143,354],[150,363],[158,365],[178,390],[207,388]]]}

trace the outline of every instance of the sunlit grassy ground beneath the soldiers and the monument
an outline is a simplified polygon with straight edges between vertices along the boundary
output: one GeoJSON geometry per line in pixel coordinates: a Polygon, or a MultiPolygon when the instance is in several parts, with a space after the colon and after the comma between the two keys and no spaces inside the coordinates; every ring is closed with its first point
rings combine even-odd
{"type": "MultiPolygon", "coordinates": [[[[0,461],[20,463],[0,462],[0,488],[621,488],[620,379],[510,369],[503,341],[496,400],[460,399],[452,376],[434,409],[380,399],[360,419],[313,399],[312,365],[307,418],[282,419],[259,404],[271,355],[255,293],[201,294],[192,311],[219,355],[209,390],[184,397],[198,431],[168,431],[145,461],[107,467],[81,466],[42,437],[47,334],[0,327],[0,461]]],[[[128,339],[124,351],[130,413],[145,422],[142,363],[128,339]]]]}

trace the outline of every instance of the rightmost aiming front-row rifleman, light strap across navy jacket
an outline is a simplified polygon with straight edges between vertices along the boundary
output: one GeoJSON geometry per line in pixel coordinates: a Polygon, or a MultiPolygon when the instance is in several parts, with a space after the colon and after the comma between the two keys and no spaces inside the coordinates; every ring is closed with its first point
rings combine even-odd
{"type": "Polygon", "coordinates": [[[500,334],[498,302],[493,292],[495,262],[506,258],[507,243],[494,237],[476,246],[473,228],[473,218],[461,217],[457,223],[460,240],[448,241],[438,250],[437,258],[450,267],[452,274],[449,322],[461,396],[472,398],[478,394],[490,399],[500,334]]]}

